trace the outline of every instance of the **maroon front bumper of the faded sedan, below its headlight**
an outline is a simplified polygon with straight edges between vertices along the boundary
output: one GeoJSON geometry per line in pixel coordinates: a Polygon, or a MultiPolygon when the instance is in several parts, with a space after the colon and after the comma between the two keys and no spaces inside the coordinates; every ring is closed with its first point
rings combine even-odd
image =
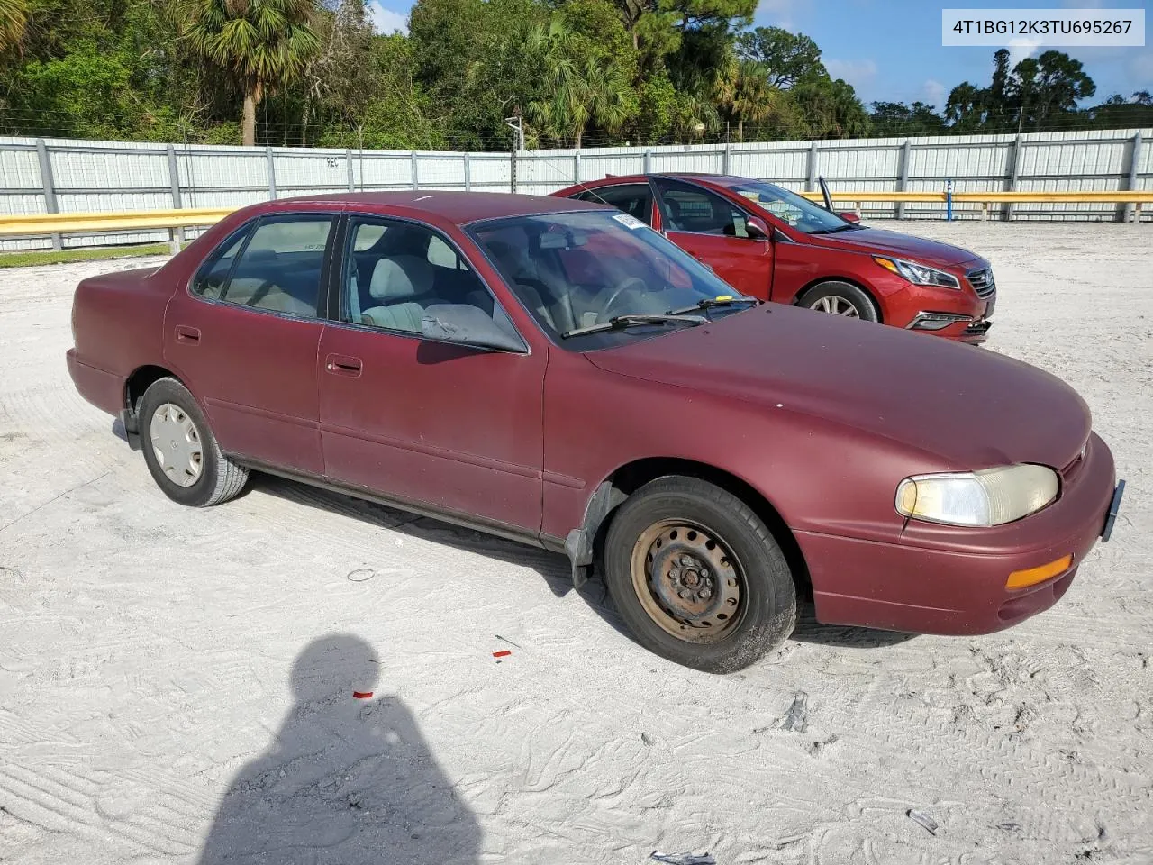
{"type": "MultiPolygon", "coordinates": [[[[1048,507],[990,529],[906,529],[898,543],[798,532],[817,620],[936,634],[992,633],[1055,604],[1106,528],[1115,498],[1113,454],[1090,436],[1084,464],[1048,507]],[[934,546],[935,543],[935,546],[934,546]],[[1070,566],[1012,591],[1013,571],[1072,555],[1070,566]]],[[[910,524],[912,525],[912,524],[910,524]]]]}

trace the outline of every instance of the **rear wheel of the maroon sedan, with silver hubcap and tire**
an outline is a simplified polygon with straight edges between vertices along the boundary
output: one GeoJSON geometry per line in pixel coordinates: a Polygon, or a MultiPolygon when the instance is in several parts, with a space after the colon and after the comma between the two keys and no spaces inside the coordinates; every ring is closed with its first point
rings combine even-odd
{"type": "Polygon", "coordinates": [[[155,382],[137,406],[144,461],[174,502],[205,507],[234,498],[248,469],[220,452],[193,394],[175,378],[155,382]]]}

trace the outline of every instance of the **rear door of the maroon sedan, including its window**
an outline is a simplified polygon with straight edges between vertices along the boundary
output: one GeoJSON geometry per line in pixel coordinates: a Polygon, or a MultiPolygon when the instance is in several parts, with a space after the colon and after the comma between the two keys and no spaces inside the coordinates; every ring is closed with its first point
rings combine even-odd
{"type": "Polygon", "coordinates": [[[165,313],[164,355],[221,450],[321,474],[317,301],[331,213],[264,217],[226,239],[165,313]]]}

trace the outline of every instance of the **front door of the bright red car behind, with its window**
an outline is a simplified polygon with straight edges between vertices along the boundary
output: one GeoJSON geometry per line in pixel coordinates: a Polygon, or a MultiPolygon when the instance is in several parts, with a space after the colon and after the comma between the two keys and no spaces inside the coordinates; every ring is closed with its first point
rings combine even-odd
{"type": "Polygon", "coordinates": [[[773,289],[773,242],[752,239],[747,215],[722,195],[666,178],[654,179],[669,240],[708,264],[743,294],[768,300],[773,289]]]}

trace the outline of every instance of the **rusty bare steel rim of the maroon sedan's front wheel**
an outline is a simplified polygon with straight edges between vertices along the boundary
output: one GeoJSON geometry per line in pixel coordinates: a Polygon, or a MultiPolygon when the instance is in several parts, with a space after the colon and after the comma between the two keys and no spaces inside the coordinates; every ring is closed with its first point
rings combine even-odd
{"type": "Polygon", "coordinates": [[[716,642],[740,623],[745,577],[716,533],[662,520],[636,539],[633,589],[657,625],[686,642],[716,642]]]}

